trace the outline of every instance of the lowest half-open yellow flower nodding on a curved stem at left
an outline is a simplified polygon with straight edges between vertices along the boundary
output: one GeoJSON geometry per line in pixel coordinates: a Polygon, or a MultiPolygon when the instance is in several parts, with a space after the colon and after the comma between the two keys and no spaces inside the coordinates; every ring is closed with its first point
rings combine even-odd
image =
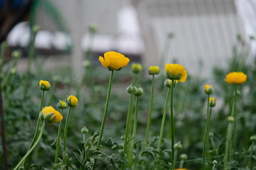
{"type": "Polygon", "coordinates": [[[52,106],[47,106],[41,111],[40,118],[45,120],[48,124],[52,124],[61,121],[63,116],[60,112],[55,111],[52,106]]]}

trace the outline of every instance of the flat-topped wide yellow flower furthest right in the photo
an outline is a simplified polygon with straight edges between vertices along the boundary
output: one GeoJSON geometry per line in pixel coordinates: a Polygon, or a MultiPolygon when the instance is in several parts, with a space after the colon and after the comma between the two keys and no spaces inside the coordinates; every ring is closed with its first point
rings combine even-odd
{"type": "Polygon", "coordinates": [[[246,82],[247,75],[242,72],[231,72],[227,74],[225,82],[229,84],[243,84],[246,82]]]}

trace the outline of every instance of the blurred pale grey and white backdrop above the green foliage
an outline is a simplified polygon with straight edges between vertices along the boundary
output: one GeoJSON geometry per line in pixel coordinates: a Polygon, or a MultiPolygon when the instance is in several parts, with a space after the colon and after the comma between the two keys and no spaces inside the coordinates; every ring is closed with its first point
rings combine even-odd
{"type": "Polygon", "coordinates": [[[247,62],[252,62],[256,54],[250,38],[256,34],[255,0],[11,1],[14,6],[16,3],[13,11],[17,14],[31,2],[23,10],[23,20],[30,23],[17,23],[7,36],[10,50],[26,51],[31,40],[29,25],[36,24],[41,28],[35,40],[36,51],[49,56],[49,68],[55,64],[52,61],[60,65],[61,57],[61,65],[71,62],[81,74],[80,63],[91,47],[94,61],[106,51],[118,51],[131,62],[143,62],[145,68],[177,59],[191,74],[200,71],[195,65],[201,61],[206,76],[213,66],[227,65],[238,39],[242,42],[240,51],[249,48],[247,62]],[[92,24],[97,31],[90,37],[88,26],[92,24]]]}

